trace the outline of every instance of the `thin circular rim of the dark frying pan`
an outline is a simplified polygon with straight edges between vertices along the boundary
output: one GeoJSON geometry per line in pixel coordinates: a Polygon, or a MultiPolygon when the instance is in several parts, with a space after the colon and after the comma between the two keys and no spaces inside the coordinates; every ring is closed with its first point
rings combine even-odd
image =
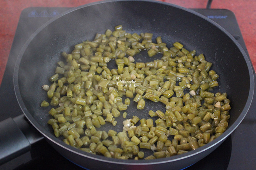
{"type": "Polygon", "coordinates": [[[79,7],[75,7],[72,8],[70,10],[67,10],[66,12],[62,13],[60,16],[56,16],[53,19],[49,20],[48,22],[46,22],[45,24],[43,24],[43,26],[41,26],[36,32],[34,32],[31,37],[29,37],[29,39],[26,41],[26,43],[24,44],[24,46],[22,47],[17,61],[15,63],[15,68],[14,68],[14,91],[15,91],[15,95],[16,98],[18,100],[19,106],[22,109],[22,112],[25,114],[25,116],[27,117],[27,119],[29,120],[29,122],[31,124],[33,124],[33,126],[40,131],[41,134],[43,134],[43,136],[45,138],[47,138],[48,140],[52,141],[53,143],[55,143],[56,145],[64,148],[65,150],[69,150],[72,153],[75,153],[77,155],[80,156],[84,156],[90,159],[94,159],[94,160],[98,160],[98,161],[102,161],[102,162],[108,162],[108,163],[116,163],[116,164],[129,164],[129,165],[152,165],[152,164],[161,164],[161,163],[167,163],[167,162],[175,162],[177,160],[182,160],[182,159],[186,159],[188,157],[197,155],[198,153],[201,153],[205,150],[208,150],[210,148],[213,148],[216,145],[219,145],[220,143],[222,143],[236,128],[237,126],[239,126],[239,124],[241,123],[241,121],[244,119],[244,117],[246,116],[247,111],[249,110],[249,107],[252,103],[252,99],[253,99],[253,94],[254,94],[254,76],[253,76],[253,67],[251,65],[249,56],[247,56],[247,54],[245,53],[244,49],[242,49],[241,45],[234,39],[234,37],[227,32],[225,29],[223,29],[221,26],[219,26],[218,24],[216,24],[215,22],[213,22],[211,19],[208,19],[207,17],[205,17],[204,15],[201,15],[193,10],[184,8],[184,7],[180,7],[178,5],[174,5],[171,3],[166,3],[166,2],[159,2],[159,1],[155,1],[155,0],[104,0],[104,1],[99,1],[99,2],[94,2],[94,3],[88,3],[85,5],[81,5],[79,7]],[[156,159],[156,160],[139,160],[139,161],[135,161],[135,160],[117,160],[117,159],[113,159],[113,158],[106,158],[103,157],[101,155],[92,155],[92,154],[88,154],[88,153],[84,153],[80,150],[77,150],[76,148],[73,148],[69,145],[66,144],[61,144],[58,140],[58,138],[56,138],[53,134],[51,134],[50,132],[46,131],[35,119],[34,117],[28,112],[28,110],[25,107],[24,102],[22,101],[22,96],[21,93],[19,92],[19,83],[18,83],[18,75],[19,75],[19,65],[22,59],[22,56],[24,54],[24,52],[26,51],[27,46],[29,46],[30,42],[33,40],[33,38],[40,32],[42,31],[45,27],[47,27],[50,23],[54,22],[55,20],[57,20],[58,18],[62,17],[63,15],[69,14],[70,12],[73,12],[75,10],[79,10],[81,8],[85,8],[91,5],[97,5],[100,3],[108,3],[108,2],[119,2],[119,1],[143,1],[143,2],[151,2],[151,3],[160,3],[163,5],[168,5],[170,7],[175,7],[175,8],[179,8],[182,10],[186,10],[189,13],[192,13],[194,15],[197,15],[198,17],[201,17],[205,20],[207,20],[208,22],[210,22],[211,24],[213,24],[215,27],[218,27],[218,29],[220,29],[222,32],[224,32],[230,39],[232,39],[232,41],[235,43],[235,45],[239,48],[239,50],[241,51],[247,67],[248,67],[248,71],[249,71],[249,77],[250,77],[250,89],[249,89],[249,95],[248,95],[248,99],[247,102],[245,104],[244,109],[241,111],[240,116],[236,119],[236,121],[232,124],[232,126],[230,126],[219,138],[215,139],[213,141],[212,144],[209,145],[205,145],[202,146],[200,148],[198,148],[197,150],[194,151],[189,151],[188,153],[184,153],[182,155],[175,155],[172,156],[170,158],[160,158],[160,159],[156,159]]]}

